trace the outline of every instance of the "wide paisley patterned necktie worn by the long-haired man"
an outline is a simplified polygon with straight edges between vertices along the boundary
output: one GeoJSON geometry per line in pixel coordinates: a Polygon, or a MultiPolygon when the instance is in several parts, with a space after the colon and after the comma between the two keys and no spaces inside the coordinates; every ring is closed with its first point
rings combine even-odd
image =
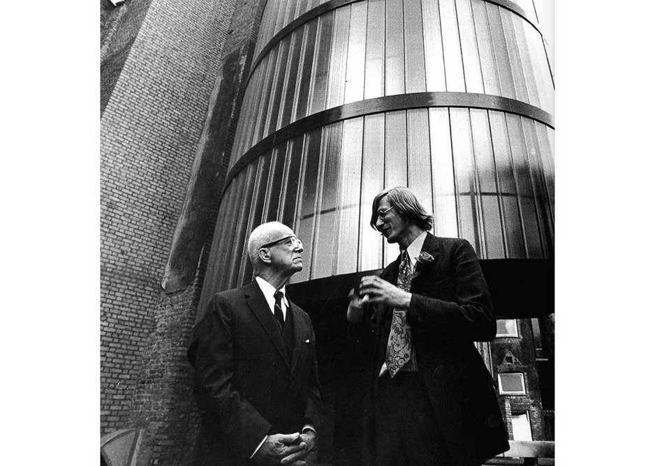
{"type": "MultiPolygon", "coordinates": [[[[398,269],[397,285],[401,290],[409,292],[411,274],[411,262],[407,251],[402,252],[402,260],[398,269]]],[[[387,355],[385,362],[389,374],[393,378],[396,373],[411,359],[411,329],[407,324],[407,311],[394,309],[391,320],[391,331],[387,341],[387,355]]]]}

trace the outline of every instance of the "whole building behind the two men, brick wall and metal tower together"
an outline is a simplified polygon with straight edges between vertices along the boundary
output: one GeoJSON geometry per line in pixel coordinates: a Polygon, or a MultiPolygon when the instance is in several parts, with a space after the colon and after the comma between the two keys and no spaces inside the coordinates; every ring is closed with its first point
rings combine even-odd
{"type": "MultiPolygon", "coordinates": [[[[554,84],[533,1],[200,3],[148,2],[128,53],[115,54],[126,56],[119,77],[112,87],[109,73],[103,81],[103,166],[125,167],[103,172],[103,221],[115,218],[103,230],[103,251],[119,238],[135,261],[145,253],[119,234],[117,225],[133,217],[128,206],[115,207],[115,216],[109,210],[116,177],[130,180],[144,167],[152,186],[135,197],[175,211],[165,225],[148,225],[154,220],[140,213],[137,228],[159,253],[149,255],[143,268],[152,276],[136,289],[147,301],[133,303],[141,330],[126,351],[138,366],[124,392],[129,416],[108,421],[116,376],[107,376],[105,430],[142,423],[144,464],[188,462],[198,423],[184,361],[189,330],[212,294],[252,279],[246,238],[259,223],[279,220],[304,243],[304,269],[289,292],[317,333],[327,405],[321,460],[353,464],[358,444],[348,439],[358,429],[367,342],[346,338],[346,295],[396,257],[368,219],[374,195],[402,185],[434,211],[434,234],[468,239],[482,261],[499,338],[478,350],[499,384],[510,434],[553,439],[554,84]],[[158,69],[167,53],[179,57],[158,69]],[[130,75],[131,66],[141,74],[130,75]],[[154,100],[156,118],[170,125],[143,118],[138,131],[147,135],[138,136],[152,141],[144,149],[116,142],[124,136],[114,128],[119,117],[153,110],[126,107],[149,88],[145,70],[152,85],[175,81],[172,88],[186,93],[154,100]],[[193,105],[184,100],[191,96],[193,105]],[[130,156],[134,167],[123,161],[130,156]]],[[[115,29],[116,37],[125,31],[115,29]]],[[[110,273],[117,259],[103,259],[103,374],[110,357],[122,365],[107,342],[125,329],[108,319],[132,306],[108,303],[141,283],[110,273]]]]}

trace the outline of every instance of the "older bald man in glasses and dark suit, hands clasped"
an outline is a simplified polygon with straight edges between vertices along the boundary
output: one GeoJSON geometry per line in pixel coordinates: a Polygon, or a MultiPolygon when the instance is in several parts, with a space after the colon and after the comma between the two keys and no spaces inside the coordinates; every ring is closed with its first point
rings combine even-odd
{"type": "Polygon", "coordinates": [[[248,240],[255,280],[215,294],[189,361],[202,428],[195,465],[303,465],[316,448],[321,403],[314,329],[286,295],[302,241],[278,222],[248,240]]]}

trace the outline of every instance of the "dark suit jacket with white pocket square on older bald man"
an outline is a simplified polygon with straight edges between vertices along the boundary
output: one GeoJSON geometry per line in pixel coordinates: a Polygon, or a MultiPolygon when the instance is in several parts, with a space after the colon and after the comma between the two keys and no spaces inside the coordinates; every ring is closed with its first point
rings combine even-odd
{"type": "Polygon", "coordinates": [[[254,281],[215,294],[196,324],[188,352],[202,416],[196,465],[244,465],[265,435],[298,432],[307,421],[318,427],[314,329],[289,304],[292,354],[254,281]]]}

